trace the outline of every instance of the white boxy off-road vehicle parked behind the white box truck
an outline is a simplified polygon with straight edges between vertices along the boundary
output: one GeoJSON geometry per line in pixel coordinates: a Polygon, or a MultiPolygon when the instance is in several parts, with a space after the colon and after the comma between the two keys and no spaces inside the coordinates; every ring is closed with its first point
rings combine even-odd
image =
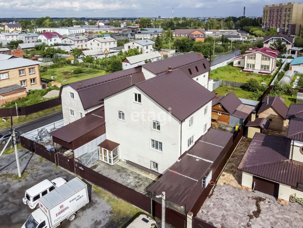
{"type": "Polygon", "coordinates": [[[26,205],[28,204],[28,207],[31,209],[39,208],[38,200],[40,197],[48,194],[50,191],[60,187],[61,185],[64,185],[66,181],[58,177],[52,181],[44,180],[40,183],[36,184],[32,188],[29,188],[25,191],[25,197],[22,199],[23,203],[26,205]]]}

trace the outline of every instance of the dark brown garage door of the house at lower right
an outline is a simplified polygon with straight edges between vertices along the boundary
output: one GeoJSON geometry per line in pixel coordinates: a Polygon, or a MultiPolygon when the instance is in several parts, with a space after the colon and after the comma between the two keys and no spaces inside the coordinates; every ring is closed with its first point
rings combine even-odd
{"type": "Polygon", "coordinates": [[[252,188],[256,191],[278,198],[279,184],[273,181],[268,181],[260,177],[252,177],[252,188]],[[255,187],[255,188],[254,188],[255,187]]]}

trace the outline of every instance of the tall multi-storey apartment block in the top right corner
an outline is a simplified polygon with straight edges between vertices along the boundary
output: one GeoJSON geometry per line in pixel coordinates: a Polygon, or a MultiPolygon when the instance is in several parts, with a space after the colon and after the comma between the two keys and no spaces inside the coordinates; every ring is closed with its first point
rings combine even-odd
{"type": "Polygon", "coordinates": [[[302,12],[303,4],[298,2],[265,5],[262,27],[266,29],[275,27],[278,32],[299,35],[301,24],[303,24],[302,12]]]}

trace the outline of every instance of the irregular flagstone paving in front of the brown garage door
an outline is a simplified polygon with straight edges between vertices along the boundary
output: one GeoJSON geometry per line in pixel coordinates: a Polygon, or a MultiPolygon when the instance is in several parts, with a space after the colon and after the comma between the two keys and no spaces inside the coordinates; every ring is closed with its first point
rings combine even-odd
{"type": "Polygon", "coordinates": [[[216,185],[197,217],[219,228],[302,228],[302,213],[297,203],[280,204],[230,185],[216,185]]]}

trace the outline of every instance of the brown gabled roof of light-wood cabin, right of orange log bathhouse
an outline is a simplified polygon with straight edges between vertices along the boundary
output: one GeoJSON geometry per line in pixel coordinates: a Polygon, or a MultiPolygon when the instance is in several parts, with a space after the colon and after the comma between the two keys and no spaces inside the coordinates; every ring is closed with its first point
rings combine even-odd
{"type": "Polygon", "coordinates": [[[286,106],[286,104],[284,104],[284,102],[278,96],[265,97],[263,99],[263,103],[258,111],[258,114],[260,114],[261,112],[265,111],[268,108],[275,109],[275,111],[277,111],[278,114],[280,114],[281,117],[286,120],[288,107],[286,106]],[[268,98],[268,103],[267,103],[267,98],[268,98]]]}

